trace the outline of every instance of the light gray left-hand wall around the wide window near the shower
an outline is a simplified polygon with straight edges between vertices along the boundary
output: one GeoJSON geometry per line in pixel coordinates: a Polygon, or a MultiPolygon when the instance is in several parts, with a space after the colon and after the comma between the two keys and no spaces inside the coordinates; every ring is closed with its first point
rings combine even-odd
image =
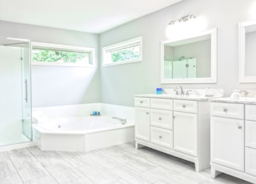
{"type": "MultiPolygon", "coordinates": [[[[0,21],[1,37],[27,38],[95,48],[98,65],[98,34],[87,34],[43,26],[0,21]]],[[[99,69],[66,66],[32,66],[32,102],[34,107],[100,102],[99,69]]]]}

